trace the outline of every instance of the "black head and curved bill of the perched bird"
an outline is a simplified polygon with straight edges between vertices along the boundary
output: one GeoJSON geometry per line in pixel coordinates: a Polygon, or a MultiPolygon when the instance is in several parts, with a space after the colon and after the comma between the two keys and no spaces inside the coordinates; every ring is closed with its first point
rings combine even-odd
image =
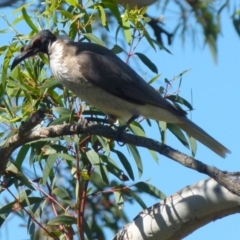
{"type": "Polygon", "coordinates": [[[56,39],[56,36],[54,36],[49,30],[39,32],[34,36],[29,45],[21,48],[21,53],[13,60],[11,70],[28,57],[34,56],[40,52],[48,54],[49,44],[56,41],[56,39]]]}

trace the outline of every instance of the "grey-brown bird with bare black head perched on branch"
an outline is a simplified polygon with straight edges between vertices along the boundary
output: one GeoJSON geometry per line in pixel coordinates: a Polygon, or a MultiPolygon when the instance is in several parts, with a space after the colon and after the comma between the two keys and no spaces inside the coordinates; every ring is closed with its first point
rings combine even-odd
{"type": "Polygon", "coordinates": [[[25,59],[44,53],[53,76],[80,99],[105,113],[111,121],[136,116],[177,125],[219,156],[229,149],[187,118],[111,50],[90,42],[74,42],[50,30],[37,33],[21,48],[11,70],[25,59]]]}

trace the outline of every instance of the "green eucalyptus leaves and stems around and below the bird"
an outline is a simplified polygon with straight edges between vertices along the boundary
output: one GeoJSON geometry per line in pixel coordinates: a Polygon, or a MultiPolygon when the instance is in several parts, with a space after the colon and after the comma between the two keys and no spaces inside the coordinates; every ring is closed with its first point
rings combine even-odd
{"type": "MultiPolygon", "coordinates": [[[[115,1],[107,0],[84,6],[76,0],[46,1],[43,6],[41,13],[29,12],[31,3],[16,9],[14,14],[20,16],[9,23],[15,37],[9,45],[0,47],[4,58],[0,85],[1,144],[16,134],[22,122],[41,107],[47,109],[46,120],[41,126],[73,123],[80,117],[104,118],[97,109],[76,99],[58,84],[48,71],[48,60],[44,55],[24,62],[10,72],[13,55],[41,29],[51,28],[56,34],[65,32],[76,41],[105,45],[99,35],[93,33],[100,20],[98,31],[114,34],[115,42],[111,45],[115,53],[127,55],[127,62],[134,54],[138,56],[156,74],[150,83],[159,77],[155,64],[136,51],[143,39],[153,49],[159,49],[159,44],[146,28],[149,21],[144,15],[146,8],[126,8],[122,14],[115,1]],[[107,11],[116,20],[113,33],[110,32],[112,26],[107,11]],[[28,35],[19,32],[19,23],[29,28],[28,35]],[[123,37],[129,46],[128,51],[119,44],[119,38],[123,37]]],[[[6,31],[0,33],[4,36],[6,31]]],[[[178,76],[180,84],[184,73],[178,76]]],[[[168,94],[174,80],[166,80],[166,88],[159,91],[176,106],[181,104],[192,110],[191,104],[178,96],[178,91],[174,95],[168,94]]],[[[149,120],[147,122],[151,125],[149,120]]],[[[141,123],[142,120],[131,124],[129,130],[132,134],[146,136],[141,123]]],[[[189,141],[180,129],[164,123],[159,126],[163,142],[168,128],[185,146],[189,147],[190,142],[194,154],[195,143],[189,141]]],[[[138,169],[138,177],[141,177],[143,167],[138,149],[133,145],[122,148],[129,151],[138,169]]],[[[104,228],[118,231],[128,222],[122,210],[124,202],[135,200],[145,208],[140,193],[161,199],[165,197],[148,182],[126,184],[128,179],[135,181],[135,174],[129,155],[124,155],[122,148],[111,139],[90,134],[40,139],[20,146],[13,154],[1,184],[1,194],[7,193],[9,200],[0,209],[0,224],[14,213],[26,221],[31,239],[39,239],[39,229],[41,236],[44,234],[53,239],[72,239],[74,234],[79,234],[81,239],[84,234],[88,239],[104,239],[104,228]]],[[[156,153],[150,153],[157,161],[156,153]]]]}

